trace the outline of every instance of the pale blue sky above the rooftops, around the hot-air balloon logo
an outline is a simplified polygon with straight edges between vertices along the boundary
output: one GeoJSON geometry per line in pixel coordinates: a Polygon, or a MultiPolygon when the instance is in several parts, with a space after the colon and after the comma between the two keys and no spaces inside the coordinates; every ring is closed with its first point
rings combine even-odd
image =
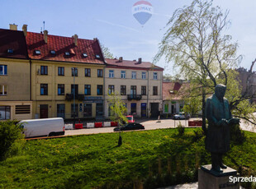
{"type": "MultiPolygon", "coordinates": [[[[1,0],[0,28],[8,29],[9,24],[15,23],[21,30],[26,24],[29,31],[40,32],[45,21],[45,30],[50,35],[97,37],[117,58],[152,62],[168,19],[177,8],[192,0],[148,0],[154,14],[143,27],[131,13],[135,2],[138,0],[1,0]]],[[[240,67],[249,68],[256,58],[256,1],[214,0],[213,3],[230,10],[232,24],[227,33],[239,43],[238,54],[244,56],[240,67]]],[[[157,65],[165,68],[165,74],[173,75],[172,62],[163,59],[157,65]]]]}

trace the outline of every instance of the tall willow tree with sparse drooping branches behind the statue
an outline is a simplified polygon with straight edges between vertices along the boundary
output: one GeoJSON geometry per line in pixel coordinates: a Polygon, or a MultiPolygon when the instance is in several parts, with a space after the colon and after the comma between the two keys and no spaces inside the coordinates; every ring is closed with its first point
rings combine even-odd
{"type": "Polygon", "coordinates": [[[177,9],[166,27],[164,38],[154,62],[163,56],[173,62],[173,70],[200,85],[203,129],[206,127],[206,90],[213,90],[216,78],[237,66],[237,43],[233,43],[225,30],[230,25],[229,12],[213,7],[212,1],[194,0],[191,5],[177,9]]]}

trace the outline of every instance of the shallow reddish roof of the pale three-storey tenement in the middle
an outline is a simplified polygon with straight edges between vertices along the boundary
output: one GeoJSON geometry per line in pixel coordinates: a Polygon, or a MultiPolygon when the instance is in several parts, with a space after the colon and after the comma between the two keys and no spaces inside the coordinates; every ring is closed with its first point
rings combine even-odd
{"type": "Polygon", "coordinates": [[[164,71],[164,68],[157,67],[151,62],[141,62],[138,61],[130,61],[130,60],[122,60],[120,62],[118,59],[109,59],[106,58],[107,67],[121,67],[121,68],[132,68],[132,69],[153,69],[153,70],[159,70],[164,71]]]}

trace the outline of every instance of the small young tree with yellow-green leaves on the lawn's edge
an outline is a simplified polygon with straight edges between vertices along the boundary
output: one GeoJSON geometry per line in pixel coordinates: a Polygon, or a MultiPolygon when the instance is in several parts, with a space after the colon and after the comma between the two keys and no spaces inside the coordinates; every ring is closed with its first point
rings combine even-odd
{"type": "Polygon", "coordinates": [[[119,125],[121,125],[123,122],[127,122],[127,118],[125,116],[127,108],[126,104],[121,99],[121,95],[119,95],[117,92],[111,93],[111,95],[108,95],[107,102],[110,105],[110,119],[113,122],[118,122],[119,125]]]}

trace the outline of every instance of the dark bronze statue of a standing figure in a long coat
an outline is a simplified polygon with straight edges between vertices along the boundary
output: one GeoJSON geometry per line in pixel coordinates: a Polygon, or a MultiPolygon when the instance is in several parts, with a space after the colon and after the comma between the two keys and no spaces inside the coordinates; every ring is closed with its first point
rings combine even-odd
{"type": "Polygon", "coordinates": [[[224,98],[225,90],[225,85],[216,85],[215,93],[206,99],[206,150],[211,152],[211,170],[217,173],[226,168],[222,154],[230,150],[230,125],[239,123],[238,118],[232,118],[229,102],[224,98]]]}

